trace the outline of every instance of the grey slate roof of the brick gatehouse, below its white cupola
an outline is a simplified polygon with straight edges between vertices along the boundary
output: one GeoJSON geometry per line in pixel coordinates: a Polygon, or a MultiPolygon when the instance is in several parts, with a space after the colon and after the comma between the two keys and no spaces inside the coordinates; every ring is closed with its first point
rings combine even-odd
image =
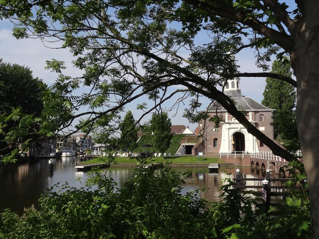
{"type": "MultiPolygon", "coordinates": [[[[243,97],[241,95],[241,90],[231,90],[231,91],[225,91],[225,95],[230,96],[234,99],[236,102],[236,108],[239,109],[239,106],[242,107],[243,110],[246,111],[271,111],[274,109],[267,108],[266,106],[263,106],[262,104],[258,103],[256,100],[250,98],[250,97],[243,97]]],[[[218,104],[217,101],[214,101],[209,107],[209,111],[216,111],[216,108],[218,108],[218,111],[226,111],[226,109],[218,104]]]]}

